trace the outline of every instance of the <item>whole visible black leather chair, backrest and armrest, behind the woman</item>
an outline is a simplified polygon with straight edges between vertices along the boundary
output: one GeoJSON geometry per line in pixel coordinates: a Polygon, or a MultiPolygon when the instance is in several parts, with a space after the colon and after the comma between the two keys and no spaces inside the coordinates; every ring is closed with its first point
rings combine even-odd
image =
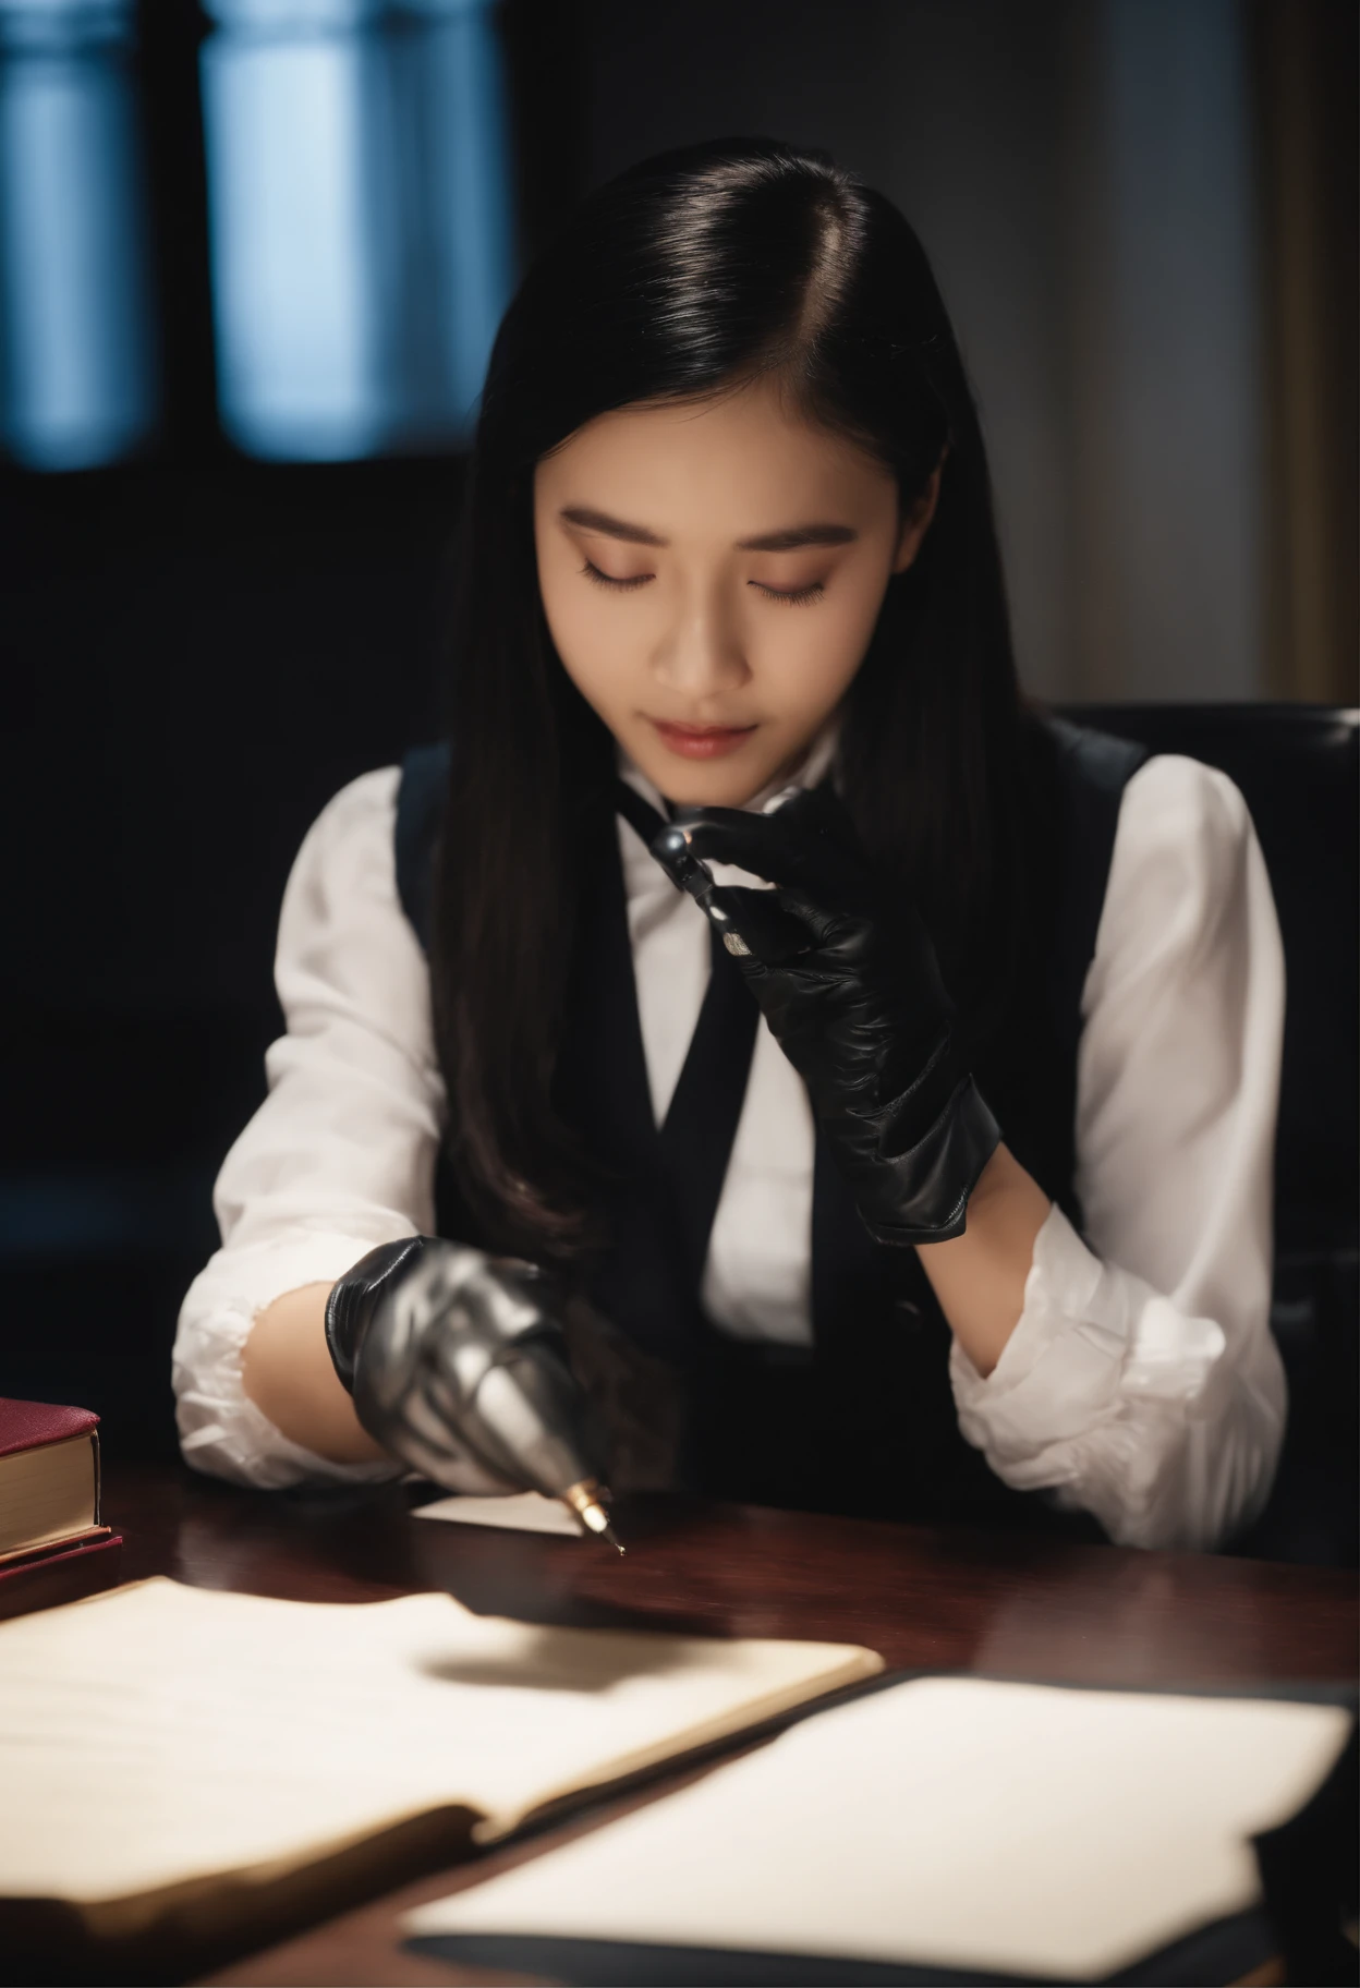
{"type": "Polygon", "coordinates": [[[1360,712],[1308,704],[1088,704],[1064,716],[1189,753],[1241,787],[1288,976],[1275,1147],[1275,1304],[1290,1384],[1271,1503],[1241,1553],[1356,1561],[1360,1292],[1360,712]]]}

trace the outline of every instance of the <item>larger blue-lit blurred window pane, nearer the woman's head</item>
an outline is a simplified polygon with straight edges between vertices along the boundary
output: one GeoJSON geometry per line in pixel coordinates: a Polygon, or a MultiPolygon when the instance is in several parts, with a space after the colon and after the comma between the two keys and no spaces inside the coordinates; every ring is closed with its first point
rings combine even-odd
{"type": "Polygon", "coordinates": [[[308,461],[465,439],[513,274],[491,0],[207,0],[223,427],[308,461]]]}

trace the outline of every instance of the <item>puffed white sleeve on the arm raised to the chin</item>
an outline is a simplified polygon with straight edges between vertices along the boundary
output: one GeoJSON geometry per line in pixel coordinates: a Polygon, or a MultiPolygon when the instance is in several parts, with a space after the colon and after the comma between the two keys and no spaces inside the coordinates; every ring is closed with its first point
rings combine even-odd
{"type": "Polygon", "coordinates": [[[1082,996],[1080,1237],[1054,1207],[984,1380],[950,1350],[962,1433],[1018,1489],[1129,1547],[1221,1545],[1284,1433],[1271,1169],[1284,956],[1239,789],[1195,759],[1129,779],[1082,996]]]}

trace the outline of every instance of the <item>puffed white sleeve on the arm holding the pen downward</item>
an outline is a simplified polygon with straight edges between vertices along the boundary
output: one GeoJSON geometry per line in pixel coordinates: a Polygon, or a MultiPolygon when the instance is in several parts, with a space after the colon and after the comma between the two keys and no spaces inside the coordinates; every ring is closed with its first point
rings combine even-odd
{"type": "Polygon", "coordinates": [[[332,1282],[378,1242],[433,1231],[443,1083],[429,974],[396,889],[398,783],[398,767],[364,773],[302,841],[274,960],[286,1034],[264,1060],[268,1095],[217,1177],[223,1246],[179,1314],[185,1461],[237,1483],[400,1475],[394,1463],[312,1455],[241,1386],[241,1350],[264,1306],[332,1282]]]}

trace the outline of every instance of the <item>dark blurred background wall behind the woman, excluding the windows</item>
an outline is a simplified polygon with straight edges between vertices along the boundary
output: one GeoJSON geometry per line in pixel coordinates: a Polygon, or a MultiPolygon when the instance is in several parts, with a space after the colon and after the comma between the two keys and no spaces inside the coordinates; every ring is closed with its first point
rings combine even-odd
{"type": "MultiPolygon", "coordinates": [[[[829,147],[913,217],[956,314],[1030,688],[1350,700],[1354,24],[1340,0],[505,0],[519,254],[664,145],[829,147]]],[[[439,726],[461,455],[225,437],[213,22],[145,0],[135,28],[159,414],[127,459],[0,467],[0,1392],[165,1447],[175,1310],[278,1026],[290,857],[439,726]]]]}

